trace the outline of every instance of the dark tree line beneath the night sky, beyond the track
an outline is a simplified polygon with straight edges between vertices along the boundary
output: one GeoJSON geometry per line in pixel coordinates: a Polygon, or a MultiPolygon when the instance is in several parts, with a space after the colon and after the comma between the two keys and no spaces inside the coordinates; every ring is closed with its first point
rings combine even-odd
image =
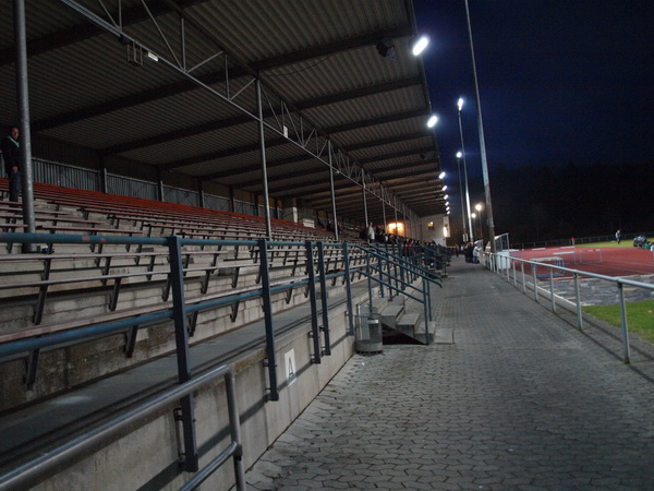
{"type": "MultiPolygon", "coordinates": [[[[654,230],[654,163],[498,166],[491,192],[495,231],[509,232],[513,243],[654,230]]],[[[475,197],[484,202],[483,194],[475,197]]],[[[460,221],[450,217],[457,238],[460,221]]]]}

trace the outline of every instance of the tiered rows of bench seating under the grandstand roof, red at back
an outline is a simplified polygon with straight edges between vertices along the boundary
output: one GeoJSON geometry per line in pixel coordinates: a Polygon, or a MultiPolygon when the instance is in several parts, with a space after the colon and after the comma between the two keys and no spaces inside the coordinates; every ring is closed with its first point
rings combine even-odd
{"type": "MultiPolygon", "coordinates": [[[[0,182],[0,189],[5,185],[5,180],[0,182]]],[[[228,296],[246,297],[261,289],[257,240],[266,236],[263,218],[47,184],[35,184],[34,191],[37,252],[23,253],[21,244],[8,243],[0,253],[3,304],[0,345],[52,333],[72,333],[83,326],[137,315],[145,319],[170,309],[169,248],[157,239],[172,235],[211,241],[183,246],[183,282],[189,304],[207,301],[219,304],[228,296]],[[86,239],[65,243],[52,239],[56,236],[86,239]],[[144,243],[148,240],[152,243],[144,243]]],[[[24,231],[20,204],[1,201],[0,209],[0,231],[24,231]]],[[[326,270],[341,271],[342,248],[329,243],[332,237],[320,229],[272,220],[272,241],[268,242],[267,254],[271,286],[306,278],[305,241],[324,241],[326,270]]],[[[311,251],[311,256],[316,258],[317,251],[313,248],[311,251]]],[[[356,266],[363,260],[363,255],[350,258],[352,279],[360,278],[356,266]]],[[[341,284],[335,278],[330,287],[342,288],[341,284]]],[[[274,309],[281,311],[305,302],[306,288],[287,289],[271,297],[274,309]]],[[[190,316],[189,331],[192,342],[198,343],[262,315],[262,300],[253,297],[195,312],[190,316]]],[[[173,350],[172,321],[158,320],[118,333],[99,333],[92,339],[72,337],[71,342],[47,350],[4,358],[0,364],[4,385],[0,410],[70,390],[173,350]]]]}

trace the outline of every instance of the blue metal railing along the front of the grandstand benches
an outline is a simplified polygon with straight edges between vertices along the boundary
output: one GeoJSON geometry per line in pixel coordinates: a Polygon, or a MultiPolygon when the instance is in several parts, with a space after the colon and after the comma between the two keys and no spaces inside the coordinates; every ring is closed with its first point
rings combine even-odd
{"type": "MultiPolygon", "coordinates": [[[[66,345],[84,339],[111,335],[128,328],[137,328],[138,326],[150,325],[157,322],[172,320],[174,325],[175,338],[175,356],[178,361],[178,380],[180,386],[189,386],[195,384],[195,378],[191,370],[190,362],[190,346],[189,346],[189,315],[204,310],[215,309],[234,302],[244,301],[253,298],[262,298],[264,303],[264,324],[266,332],[266,364],[268,373],[268,394],[269,400],[279,400],[279,387],[277,381],[277,363],[275,355],[275,326],[272,315],[271,295],[292,290],[298,287],[307,287],[308,297],[312,307],[312,336],[314,339],[314,354],[312,361],[320,362],[322,356],[330,355],[329,325],[327,315],[327,288],[326,280],[343,278],[347,295],[347,309],[349,316],[349,335],[354,335],[353,325],[353,302],[351,279],[353,273],[361,273],[368,278],[368,282],[385,287],[389,292],[404,295],[423,303],[425,309],[425,323],[431,315],[431,300],[427,282],[436,283],[440,286],[437,278],[429,275],[422,266],[424,265],[424,255],[422,253],[408,254],[400,247],[382,250],[378,248],[364,248],[361,246],[329,242],[313,242],[313,241],[268,241],[259,240],[210,240],[210,239],[184,239],[178,236],[165,238],[135,238],[135,237],[119,237],[119,236],[72,236],[72,235],[47,235],[47,233],[0,233],[0,243],[47,243],[47,244],[134,244],[134,246],[159,246],[168,249],[168,260],[170,263],[169,284],[172,294],[172,308],[162,309],[160,311],[145,313],[136,316],[130,316],[111,322],[99,322],[68,331],[53,332],[39,335],[38,337],[25,337],[23,339],[14,339],[0,344],[0,359],[11,356],[29,352],[31,358],[38,360],[38,352],[44,348],[53,347],[57,345],[66,345]],[[254,260],[258,258],[258,267],[261,276],[261,287],[253,287],[249,291],[241,291],[235,295],[226,295],[220,298],[209,300],[189,301],[185,298],[184,291],[184,262],[183,247],[198,246],[201,248],[216,246],[225,247],[232,246],[234,248],[247,247],[254,252],[254,260]],[[296,259],[300,258],[301,251],[304,251],[306,262],[306,274],[299,277],[293,277],[283,282],[272,282],[270,277],[270,255],[276,252],[288,252],[283,249],[294,249],[296,259]],[[342,270],[336,272],[327,272],[325,268],[325,253],[329,251],[329,255],[339,254],[342,258],[342,270]],[[352,264],[352,253],[356,251],[359,256],[365,255],[366,265],[352,264]],[[340,255],[342,254],[342,255],[340,255]],[[377,265],[371,265],[371,259],[377,260],[377,265]],[[398,271],[400,277],[398,278],[398,271]],[[316,277],[317,273],[317,277],[316,277]],[[412,283],[422,278],[423,287],[417,288],[412,283]],[[319,325],[317,315],[317,298],[318,294],[315,289],[315,283],[320,283],[320,301],[323,325],[319,325]],[[411,288],[419,295],[405,291],[411,288]],[[422,298],[421,295],[422,294],[422,298]],[[323,338],[320,338],[320,334],[323,338]],[[320,343],[322,342],[322,343],[320,343]],[[324,346],[324,349],[323,347],[324,346]],[[34,356],[36,354],[36,356],[34,356]]],[[[47,254],[34,254],[34,258],[41,259],[47,254]]],[[[254,264],[254,262],[253,262],[254,264]]],[[[98,276],[101,279],[101,275],[98,276]]],[[[384,290],[382,290],[384,291],[384,290]]],[[[372,291],[370,294],[372,306],[372,291]]],[[[428,333],[428,330],[425,331],[428,333]]],[[[427,337],[428,338],[428,337],[427,337]]],[[[36,370],[36,368],[34,368],[36,370]]],[[[193,385],[194,386],[194,385],[193,385]]],[[[181,421],[184,439],[184,470],[196,472],[198,471],[198,455],[197,442],[195,438],[195,417],[194,417],[194,400],[192,391],[180,394],[180,403],[182,407],[181,421]]],[[[201,470],[202,472],[202,470],[201,470]]],[[[199,472],[198,472],[199,474],[199,472]]]]}

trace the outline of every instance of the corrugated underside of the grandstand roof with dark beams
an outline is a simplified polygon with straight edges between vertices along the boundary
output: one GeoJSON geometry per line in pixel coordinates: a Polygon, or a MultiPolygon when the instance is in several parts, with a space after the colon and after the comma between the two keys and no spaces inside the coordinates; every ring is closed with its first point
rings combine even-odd
{"type": "MultiPolygon", "coordinates": [[[[52,0],[26,28],[33,135],[261,195],[263,133],[270,197],[331,212],[331,168],[340,216],[363,219],[364,185],[372,220],[445,213],[411,0],[52,0]]],[[[13,32],[0,16],[5,123],[13,32]]]]}

